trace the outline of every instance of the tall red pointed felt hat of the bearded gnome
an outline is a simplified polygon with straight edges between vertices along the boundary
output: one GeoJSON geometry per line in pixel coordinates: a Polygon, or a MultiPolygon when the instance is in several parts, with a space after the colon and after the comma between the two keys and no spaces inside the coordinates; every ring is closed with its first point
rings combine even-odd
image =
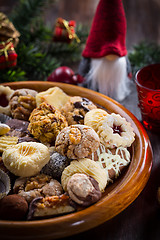
{"type": "Polygon", "coordinates": [[[100,0],[82,56],[101,58],[109,54],[120,57],[126,50],[126,18],[122,0],[100,0]]]}

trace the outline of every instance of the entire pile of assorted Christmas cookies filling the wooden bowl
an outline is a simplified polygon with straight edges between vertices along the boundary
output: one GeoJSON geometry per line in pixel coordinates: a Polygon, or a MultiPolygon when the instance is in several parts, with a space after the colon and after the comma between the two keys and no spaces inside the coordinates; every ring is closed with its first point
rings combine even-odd
{"type": "Polygon", "coordinates": [[[119,114],[58,87],[0,86],[0,219],[68,214],[99,201],[131,160],[119,114]]]}

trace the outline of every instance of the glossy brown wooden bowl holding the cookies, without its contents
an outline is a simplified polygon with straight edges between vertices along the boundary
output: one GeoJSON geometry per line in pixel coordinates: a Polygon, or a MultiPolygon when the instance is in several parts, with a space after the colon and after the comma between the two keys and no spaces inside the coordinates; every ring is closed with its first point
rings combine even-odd
{"type": "Polygon", "coordinates": [[[111,98],[92,90],[74,85],[51,82],[7,83],[13,89],[30,88],[44,91],[58,86],[69,95],[86,97],[110,112],[125,117],[134,128],[136,137],[129,167],[113,183],[107,186],[103,197],[94,205],[72,214],[36,221],[2,221],[2,239],[55,239],[89,230],[113,218],[129,206],[143,190],[150,176],[152,149],[149,138],[141,123],[122,105],[111,98]]]}

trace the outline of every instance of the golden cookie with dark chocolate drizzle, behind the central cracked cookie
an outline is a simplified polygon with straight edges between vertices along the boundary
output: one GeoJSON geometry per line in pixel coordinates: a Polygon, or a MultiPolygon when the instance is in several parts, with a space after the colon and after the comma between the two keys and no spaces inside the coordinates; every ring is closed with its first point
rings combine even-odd
{"type": "Polygon", "coordinates": [[[66,117],[68,125],[84,124],[85,114],[95,108],[97,107],[87,98],[74,96],[61,108],[61,112],[66,117]]]}

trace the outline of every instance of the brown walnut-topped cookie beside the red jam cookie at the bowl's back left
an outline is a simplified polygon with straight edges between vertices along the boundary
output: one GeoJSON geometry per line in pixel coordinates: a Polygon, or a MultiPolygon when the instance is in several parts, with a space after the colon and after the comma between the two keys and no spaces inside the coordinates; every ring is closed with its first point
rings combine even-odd
{"type": "Polygon", "coordinates": [[[16,90],[9,101],[12,117],[28,121],[31,112],[36,108],[36,94],[37,92],[31,89],[16,90]]]}

